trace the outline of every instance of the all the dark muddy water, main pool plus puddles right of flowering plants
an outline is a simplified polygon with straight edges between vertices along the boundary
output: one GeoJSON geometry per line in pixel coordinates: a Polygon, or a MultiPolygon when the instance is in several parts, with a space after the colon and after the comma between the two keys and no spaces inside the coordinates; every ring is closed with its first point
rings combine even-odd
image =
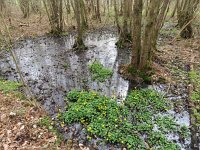
{"type": "MultiPolygon", "coordinates": [[[[72,89],[95,90],[109,97],[115,96],[118,100],[126,97],[131,84],[124,80],[117,70],[120,64],[129,62],[130,52],[118,50],[115,46],[116,41],[115,34],[92,33],[85,39],[88,50],[75,52],[72,50],[73,35],[62,38],[39,37],[16,43],[13,52],[31,91],[50,115],[54,116],[59,110],[64,109],[64,97],[72,89]],[[94,61],[100,61],[105,67],[113,70],[112,77],[104,83],[91,79],[88,65],[94,61]]],[[[0,75],[10,80],[19,80],[12,58],[8,54],[0,57],[0,75]]],[[[166,85],[154,85],[150,88],[163,93],[168,91],[165,93],[166,97],[171,99],[174,105],[176,101],[183,102],[186,99],[184,94],[170,93],[166,85]]],[[[180,111],[176,111],[177,107],[174,107],[167,114],[173,116],[180,125],[189,126],[187,108],[184,108],[184,103],[179,107],[180,111]]],[[[69,137],[69,134],[65,137],[69,137]]],[[[177,135],[168,137],[179,143],[183,149],[188,149],[190,140],[180,142],[177,135]]],[[[109,149],[109,146],[99,149],[109,149]]]]}

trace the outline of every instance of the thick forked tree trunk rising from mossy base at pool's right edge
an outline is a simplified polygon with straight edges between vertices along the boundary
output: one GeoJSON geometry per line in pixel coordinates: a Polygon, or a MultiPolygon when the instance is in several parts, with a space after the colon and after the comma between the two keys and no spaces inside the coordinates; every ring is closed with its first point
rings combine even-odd
{"type": "Polygon", "coordinates": [[[158,33],[165,20],[169,0],[149,1],[144,31],[142,31],[143,1],[135,0],[133,7],[133,49],[131,65],[140,71],[145,71],[151,65],[152,51],[156,44],[158,33]]]}

